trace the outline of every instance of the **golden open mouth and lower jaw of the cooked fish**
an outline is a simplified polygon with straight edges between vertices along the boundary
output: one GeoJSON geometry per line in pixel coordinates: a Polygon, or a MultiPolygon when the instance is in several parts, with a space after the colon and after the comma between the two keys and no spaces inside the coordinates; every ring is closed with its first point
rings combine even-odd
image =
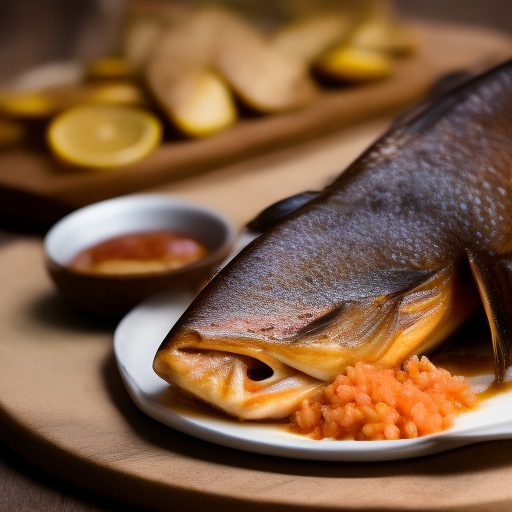
{"type": "Polygon", "coordinates": [[[153,369],[171,385],[243,420],[289,416],[326,384],[259,348],[238,345],[234,351],[229,340],[196,332],[159,350],[153,369]]]}

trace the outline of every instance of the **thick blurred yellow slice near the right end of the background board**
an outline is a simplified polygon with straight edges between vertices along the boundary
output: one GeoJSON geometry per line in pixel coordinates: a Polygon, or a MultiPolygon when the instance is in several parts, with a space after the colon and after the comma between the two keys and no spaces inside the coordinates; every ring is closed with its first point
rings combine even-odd
{"type": "Polygon", "coordinates": [[[389,76],[393,69],[390,57],[382,52],[341,46],[324,55],[316,67],[321,74],[343,82],[367,82],[389,76]]]}

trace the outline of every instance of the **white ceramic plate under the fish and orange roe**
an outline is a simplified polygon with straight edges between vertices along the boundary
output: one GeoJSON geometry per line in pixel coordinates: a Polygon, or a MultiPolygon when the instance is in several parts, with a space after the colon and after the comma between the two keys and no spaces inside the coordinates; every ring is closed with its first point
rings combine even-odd
{"type": "MultiPolygon", "coordinates": [[[[314,441],[276,424],[240,422],[173,397],[152,369],[167,332],[192,300],[188,293],[150,298],[119,324],[114,349],[121,376],[135,404],[146,414],[192,436],[250,452],[313,460],[378,461],[437,453],[479,441],[512,438],[512,392],[498,395],[458,418],[440,434],[399,441],[314,441]]],[[[489,375],[474,382],[485,388],[489,375]]],[[[479,391],[478,390],[478,391],[479,391]]]]}

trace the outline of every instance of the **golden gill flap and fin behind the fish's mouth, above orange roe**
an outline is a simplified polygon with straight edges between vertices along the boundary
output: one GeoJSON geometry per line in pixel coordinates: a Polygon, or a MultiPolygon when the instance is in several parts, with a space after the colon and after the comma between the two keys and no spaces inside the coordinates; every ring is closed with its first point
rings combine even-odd
{"type": "Polygon", "coordinates": [[[452,263],[396,293],[344,302],[303,327],[296,339],[337,345],[344,364],[397,366],[432,350],[473,311],[478,294],[468,273],[452,263]]]}

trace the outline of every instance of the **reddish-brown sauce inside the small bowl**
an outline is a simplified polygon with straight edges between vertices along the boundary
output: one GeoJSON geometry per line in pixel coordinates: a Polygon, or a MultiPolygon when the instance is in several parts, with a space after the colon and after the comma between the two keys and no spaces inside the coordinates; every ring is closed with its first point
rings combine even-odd
{"type": "Polygon", "coordinates": [[[203,244],[180,233],[129,233],[83,250],[68,266],[95,274],[161,272],[193,263],[207,253],[203,244]]]}

